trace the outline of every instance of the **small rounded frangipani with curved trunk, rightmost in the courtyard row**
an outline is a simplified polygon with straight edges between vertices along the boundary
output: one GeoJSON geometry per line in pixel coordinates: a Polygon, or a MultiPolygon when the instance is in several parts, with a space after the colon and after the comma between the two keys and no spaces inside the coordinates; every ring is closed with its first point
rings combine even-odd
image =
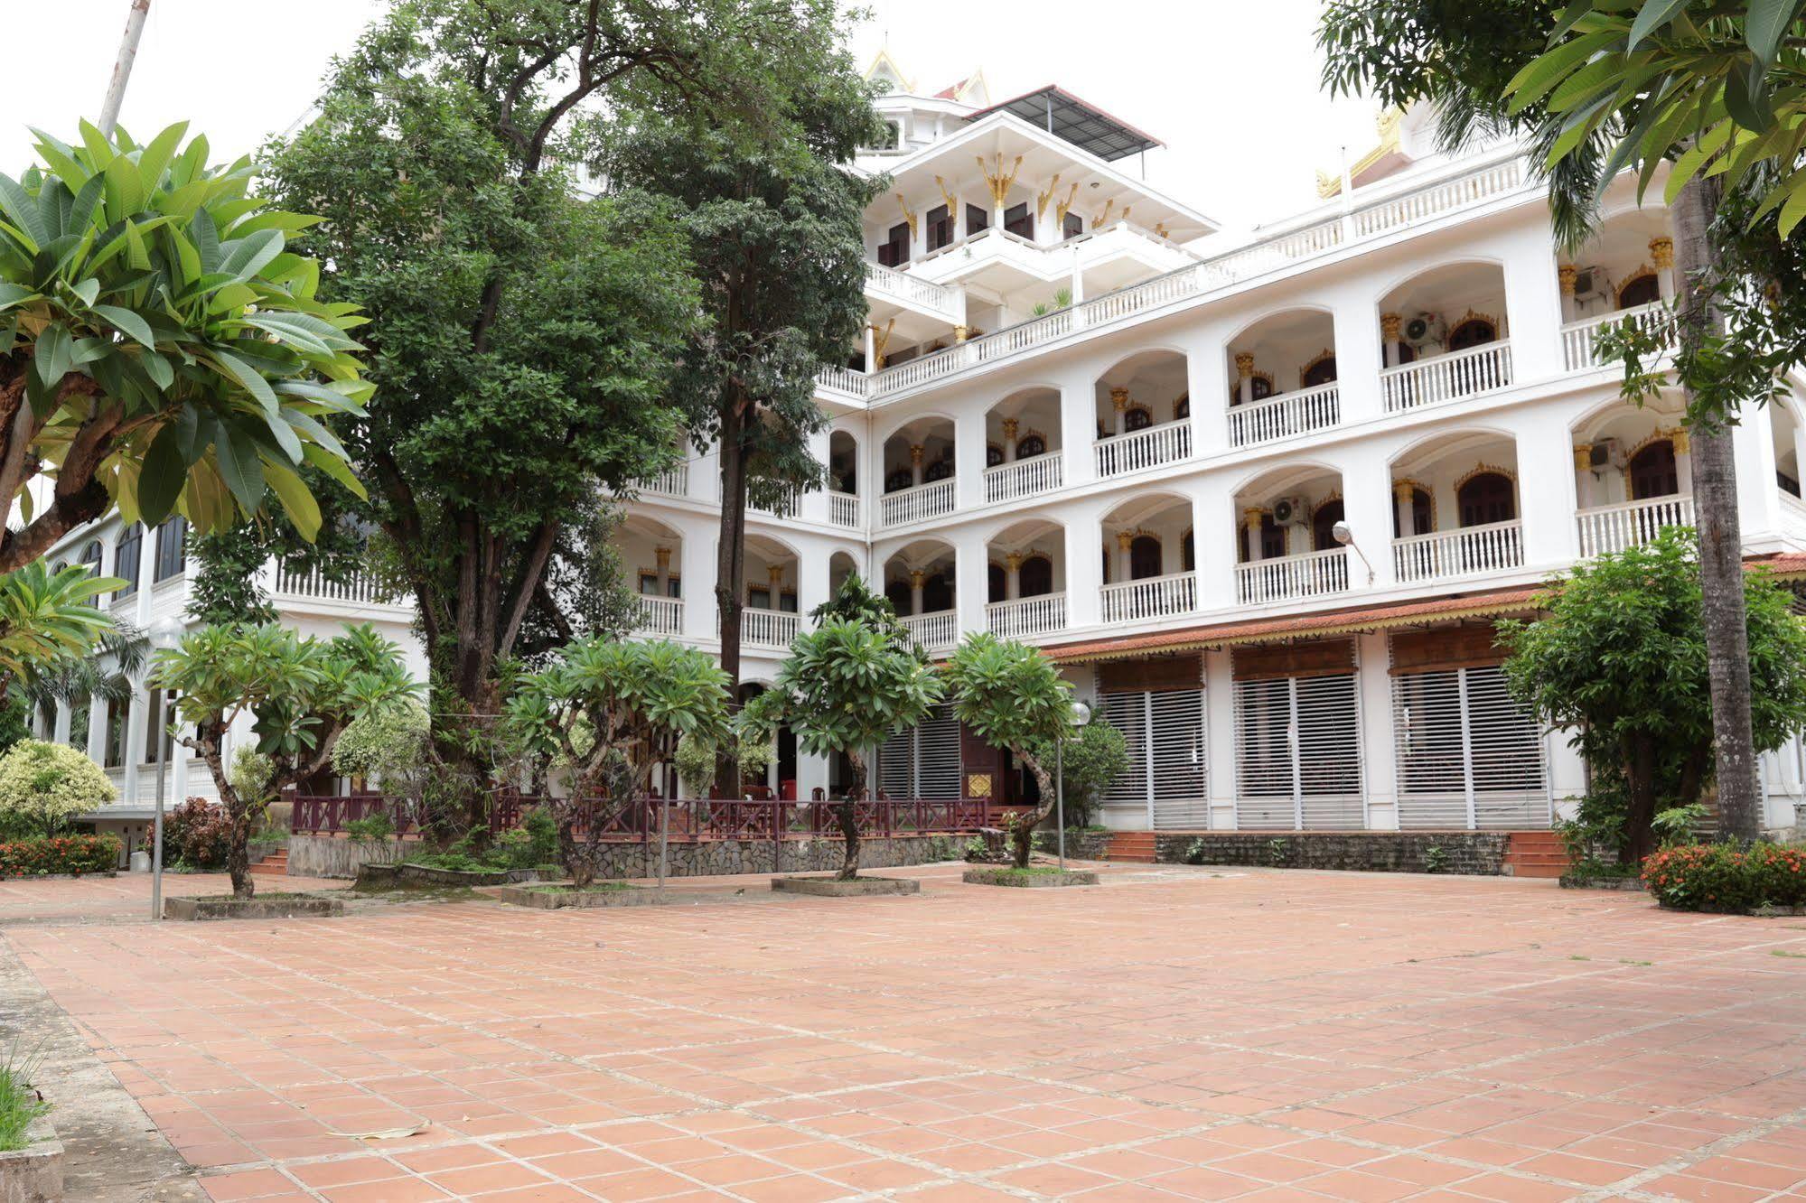
{"type": "Polygon", "coordinates": [[[1028,869],[1035,827],[1055,804],[1044,757],[1073,735],[1073,686],[1038,648],[993,634],[968,636],[943,674],[959,721],[993,748],[1008,748],[1040,786],[1040,809],[1010,831],[1015,865],[1028,869]]]}

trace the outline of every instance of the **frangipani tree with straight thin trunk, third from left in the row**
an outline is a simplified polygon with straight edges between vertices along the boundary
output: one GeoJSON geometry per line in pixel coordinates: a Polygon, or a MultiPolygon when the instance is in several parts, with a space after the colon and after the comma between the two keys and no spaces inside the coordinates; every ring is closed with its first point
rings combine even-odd
{"type": "Polygon", "coordinates": [[[824,618],[791,641],[789,659],[771,688],[740,712],[751,737],[769,741],[780,726],[796,733],[809,755],[843,753],[852,789],[834,813],[845,838],[840,878],[860,872],[858,802],[865,797],[867,751],[899,726],[916,726],[941,701],[941,681],[889,630],[852,618],[824,618]]]}

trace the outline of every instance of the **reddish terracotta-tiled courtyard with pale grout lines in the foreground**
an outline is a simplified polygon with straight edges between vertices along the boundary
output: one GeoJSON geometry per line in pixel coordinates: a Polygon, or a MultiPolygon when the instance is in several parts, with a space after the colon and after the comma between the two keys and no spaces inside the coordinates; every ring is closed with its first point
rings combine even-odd
{"type": "Polygon", "coordinates": [[[1806,919],[894,872],[0,932],[220,1201],[1806,1198],[1806,919]]]}

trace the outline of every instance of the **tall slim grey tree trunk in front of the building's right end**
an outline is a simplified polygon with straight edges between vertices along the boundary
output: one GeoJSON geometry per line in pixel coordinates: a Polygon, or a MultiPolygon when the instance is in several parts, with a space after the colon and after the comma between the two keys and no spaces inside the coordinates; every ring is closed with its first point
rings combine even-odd
{"type": "MultiPolygon", "coordinates": [[[[1694,177],[1676,197],[1674,271],[1680,276],[1681,338],[1698,340],[1723,327],[1712,302],[1718,253],[1710,224],[1721,184],[1694,177]]],[[[1692,394],[1687,403],[1692,412],[1692,394]]],[[[1737,517],[1737,466],[1730,441],[1734,415],[1694,415],[1694,511],[1699,529],[1699,591],[1707,674],[1712,686],[1712,742],[1718,753],[1719,835],[1755,840],[1763,833],[1763,795],[1755,779],[1755,737],[1750,726],[1750,627],[1743,602],[1743,529],[1737,517]]]]}

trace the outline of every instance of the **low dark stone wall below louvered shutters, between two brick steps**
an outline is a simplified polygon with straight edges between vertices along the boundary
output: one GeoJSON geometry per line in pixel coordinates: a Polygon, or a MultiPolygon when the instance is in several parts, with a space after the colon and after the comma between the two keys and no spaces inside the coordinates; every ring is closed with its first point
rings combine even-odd
{"type": "Polygon", "coordinates": [[[1271,869],[1358,869],[1499,876],[1503,831],[1176,831],[1154,840],[1154,860],[1190,865],[1264,865],[1271,869]],[[1196,845],[1196,853],[1194,853],[1196,845]]]}

